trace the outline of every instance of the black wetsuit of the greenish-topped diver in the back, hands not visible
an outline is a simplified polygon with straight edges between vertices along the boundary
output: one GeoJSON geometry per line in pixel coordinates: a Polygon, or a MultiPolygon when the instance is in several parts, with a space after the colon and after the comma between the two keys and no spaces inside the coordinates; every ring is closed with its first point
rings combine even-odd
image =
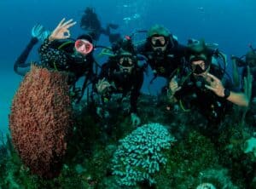
{"type": "Polygon", "coordinates": [[[143,54],[147,58],[148,65],[155,71],[155,77],[160,76],[168,79],[175,74],[177,68],[183,65],[186,48],[172,38],[167,44],[165,52],[155,52],[148,40],[137,46],[138,54],[143,54]]]}

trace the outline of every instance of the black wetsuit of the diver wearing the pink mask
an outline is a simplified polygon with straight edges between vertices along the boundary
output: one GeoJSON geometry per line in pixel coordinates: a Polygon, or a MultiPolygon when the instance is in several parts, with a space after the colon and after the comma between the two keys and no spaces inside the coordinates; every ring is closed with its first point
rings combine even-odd
{"type": "MultiPolygon", "coordinates": [[[[55,40],[49,42],[49,40],[45,40],[39,49],[39,54],[41,55],[41,64],[43,66],[68,73],[69,83],[73,87],[73,90],[79,78],[85,76],[82,95],[89,81],[92,82],[95,78],[92,53],[86,56],[76,54],[73,41],[55,40]],[[64,43],[67,45],[63,45],[64,43]]],[[[79,97],[79,100],[80,98],[82,96],[79,97]]]]}

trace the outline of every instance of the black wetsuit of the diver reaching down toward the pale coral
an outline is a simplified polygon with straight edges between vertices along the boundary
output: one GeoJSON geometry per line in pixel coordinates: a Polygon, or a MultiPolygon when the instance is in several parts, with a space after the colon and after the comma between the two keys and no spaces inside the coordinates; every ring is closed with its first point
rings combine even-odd
{"type": "MultiPolygon", "coordinates": [[[[116,60],[110,58],[102,65],[102,72],[99,78],[106,78],[109,83],[114,83],[115,88],[111,88],[109,94],[129,94],[131,92],[131,112],[137,112],[137,99],[140,89],[143,86],[143,69],[133,68],[131,74],[120,72],[116,60]]],[[[110,97],[110,96],[108,96],[110,97]]]]}

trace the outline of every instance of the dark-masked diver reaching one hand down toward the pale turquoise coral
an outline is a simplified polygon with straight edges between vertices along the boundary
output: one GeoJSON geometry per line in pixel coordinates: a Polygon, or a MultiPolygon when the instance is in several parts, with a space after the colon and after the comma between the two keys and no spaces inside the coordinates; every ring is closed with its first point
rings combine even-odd
{"type": "Polygon", "coordinates": [[[137,99],[143,85],[143,69],[138,66],[137,54],[126,36],[113,46],[113,56],[102,65],[96,92],[102,97],[102,104],[106,104],[113,94],[122,94],[122,100],[130,97],[130,113],[133,125],[140,124],[137,116],[137,99]]]}

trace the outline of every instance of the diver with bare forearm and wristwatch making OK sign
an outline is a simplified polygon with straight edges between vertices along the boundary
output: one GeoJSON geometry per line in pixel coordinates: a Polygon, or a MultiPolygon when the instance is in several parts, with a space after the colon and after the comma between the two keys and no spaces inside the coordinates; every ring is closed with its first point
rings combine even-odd
{"type": "Polygon", "coordinates": [[[216,54],[221,55],[203,40],[189,40],[186,74],[172,77],[167,93],[171,103],[178,102],[184,111],[198,110],[214,128],[232,104],[248,106],[247,95],[235,89],[223,69],[213,63],[216,54]]]}

